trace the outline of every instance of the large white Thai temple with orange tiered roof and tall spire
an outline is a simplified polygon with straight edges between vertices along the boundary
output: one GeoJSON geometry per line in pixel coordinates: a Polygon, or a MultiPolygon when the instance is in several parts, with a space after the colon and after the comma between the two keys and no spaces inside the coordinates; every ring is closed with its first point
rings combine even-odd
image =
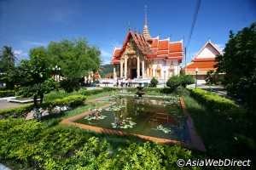
{"type": "Polygon", "coordinates": [[[128,31],[123,46],[113,49],[113,79],[163,82],[179,74],[182,59],[183,40],[151,37],[145,15],[143,33],[128,31]]]}

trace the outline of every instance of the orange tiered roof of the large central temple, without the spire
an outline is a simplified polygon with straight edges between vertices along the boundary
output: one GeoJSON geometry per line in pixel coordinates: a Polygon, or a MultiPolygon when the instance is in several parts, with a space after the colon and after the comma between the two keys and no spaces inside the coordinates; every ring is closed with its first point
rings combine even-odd
{"type": "Polygon", "coordinates": [[[179,62],[183,59],[183,41],[171,42],[169,38],[160,40],[159,37],[146,39],[143,34],[129,31],[122,48],[113,50],[113,64],[119,64],[119,59],[131,38],[147,59],[178,59],[179,62]]]}

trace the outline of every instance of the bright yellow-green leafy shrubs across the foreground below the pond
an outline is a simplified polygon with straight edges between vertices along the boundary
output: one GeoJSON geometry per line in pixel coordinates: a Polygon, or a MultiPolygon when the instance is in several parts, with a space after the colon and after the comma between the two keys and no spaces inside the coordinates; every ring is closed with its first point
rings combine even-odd
{"type": "Polygon", "coordinates": [[[22,119],[0,120],[0,159],[32,169],[179,169],[179,158],[192,158],[180,146],[127,143],[78,128],[49,127],[22,119]]]}

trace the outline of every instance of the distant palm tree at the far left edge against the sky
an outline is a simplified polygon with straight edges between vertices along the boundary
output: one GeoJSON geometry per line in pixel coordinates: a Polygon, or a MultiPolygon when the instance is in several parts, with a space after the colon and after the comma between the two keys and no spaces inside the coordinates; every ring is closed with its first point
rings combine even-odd
{"type": "Polygon", "coordinates": [[[11,47],[3,46],[0,54],[0,70],[2,72],[9,71],[15,67],[15,54],[11,47]]]}

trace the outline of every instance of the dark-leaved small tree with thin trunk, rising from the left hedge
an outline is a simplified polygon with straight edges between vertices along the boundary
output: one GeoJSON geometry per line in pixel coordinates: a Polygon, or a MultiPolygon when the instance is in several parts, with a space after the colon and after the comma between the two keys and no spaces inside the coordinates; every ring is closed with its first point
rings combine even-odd
{"type": "Polygon", "coordinates": [[[17,84],[22,94],[32,95],[36,106],[38,98],[42,103],[44,94],[55,88],[55,81],[51,78],[47,50],[43,47],[32,48],[30,59],[21,60],[16,70],[16,77],[18,77],[17,84]]]}

